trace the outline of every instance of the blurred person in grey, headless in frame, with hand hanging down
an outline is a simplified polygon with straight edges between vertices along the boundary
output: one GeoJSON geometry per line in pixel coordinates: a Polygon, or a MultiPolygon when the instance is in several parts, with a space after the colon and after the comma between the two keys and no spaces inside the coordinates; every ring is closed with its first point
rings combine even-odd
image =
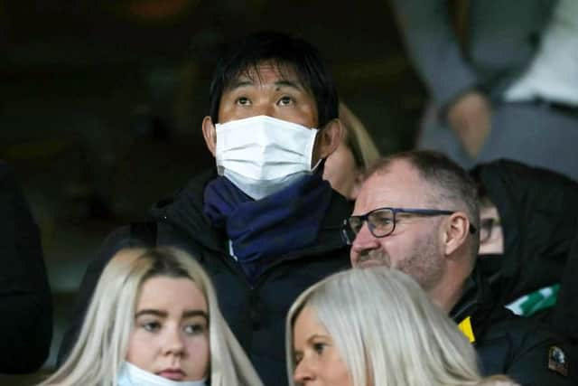
{"type": "Polygon", "coordinates": [[[431,95],[417,146],[578,180],[578,2],[391,0],[431,95]]]}

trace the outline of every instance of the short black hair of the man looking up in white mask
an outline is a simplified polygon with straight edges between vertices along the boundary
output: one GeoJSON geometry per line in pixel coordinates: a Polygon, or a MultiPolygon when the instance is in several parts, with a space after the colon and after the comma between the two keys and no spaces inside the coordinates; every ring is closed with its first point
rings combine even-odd
{"type": "Polygon", "coordinates": [[[282,73],[284,70],[295,72],[303,88],[311,93],[317,103],[319,127],[338,117],[339,99],[335,82],[317,49],[309,42],[284,33],[261,32],[231,44],[220,58],[210,83],[209,106],[213,123],[219,122],[223,92],[240,75],[256,71],[265,61],[271,62],[282,73]]]}

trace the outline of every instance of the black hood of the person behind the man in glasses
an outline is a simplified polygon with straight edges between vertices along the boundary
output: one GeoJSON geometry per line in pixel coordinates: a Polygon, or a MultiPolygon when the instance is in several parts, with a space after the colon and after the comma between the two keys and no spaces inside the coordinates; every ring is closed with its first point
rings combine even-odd
{"type": "Polygon", "coordinates": [[[504,254],[495,259],[499,278],[492,284],[499,303],[559,283],[578,229],[578,184],[510,160],[480,165],[472,175],[498,208],[504,233],[504,254]]]}

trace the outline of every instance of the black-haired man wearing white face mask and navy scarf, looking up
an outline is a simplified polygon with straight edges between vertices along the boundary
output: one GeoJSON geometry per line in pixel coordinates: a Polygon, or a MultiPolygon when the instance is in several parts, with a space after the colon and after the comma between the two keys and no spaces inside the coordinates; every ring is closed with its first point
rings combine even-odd
{"type": "Polygon", "coordinates": [[[210,87],[202,132],[216,169],[193,178],[150,223],[111,235],[83,279],[67,353],[102,267],[138,239],[200,260],[220,308],[266,385],[286,382],[284,317],[313,283],[349,267],[345,197],[322,180],[340,143],[338,97],[319,53],[280,33],[232,46],[210,87]]]}

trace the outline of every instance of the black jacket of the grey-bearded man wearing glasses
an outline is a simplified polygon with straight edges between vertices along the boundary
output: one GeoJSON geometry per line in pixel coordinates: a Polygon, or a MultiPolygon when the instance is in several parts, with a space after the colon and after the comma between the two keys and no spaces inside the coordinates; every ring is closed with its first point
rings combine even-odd
{"type": "Polygon", "coordinates": [[[570,353],[567,344],[537,320],[494,306],[494,298],[481,270],[474,269],[463,297],[450,313],[458,324],[470,316],[482,374],[507,374],[521,386],[575,384],[570,377],[548,369],[550,348],[558,346],[570,353]]]}

